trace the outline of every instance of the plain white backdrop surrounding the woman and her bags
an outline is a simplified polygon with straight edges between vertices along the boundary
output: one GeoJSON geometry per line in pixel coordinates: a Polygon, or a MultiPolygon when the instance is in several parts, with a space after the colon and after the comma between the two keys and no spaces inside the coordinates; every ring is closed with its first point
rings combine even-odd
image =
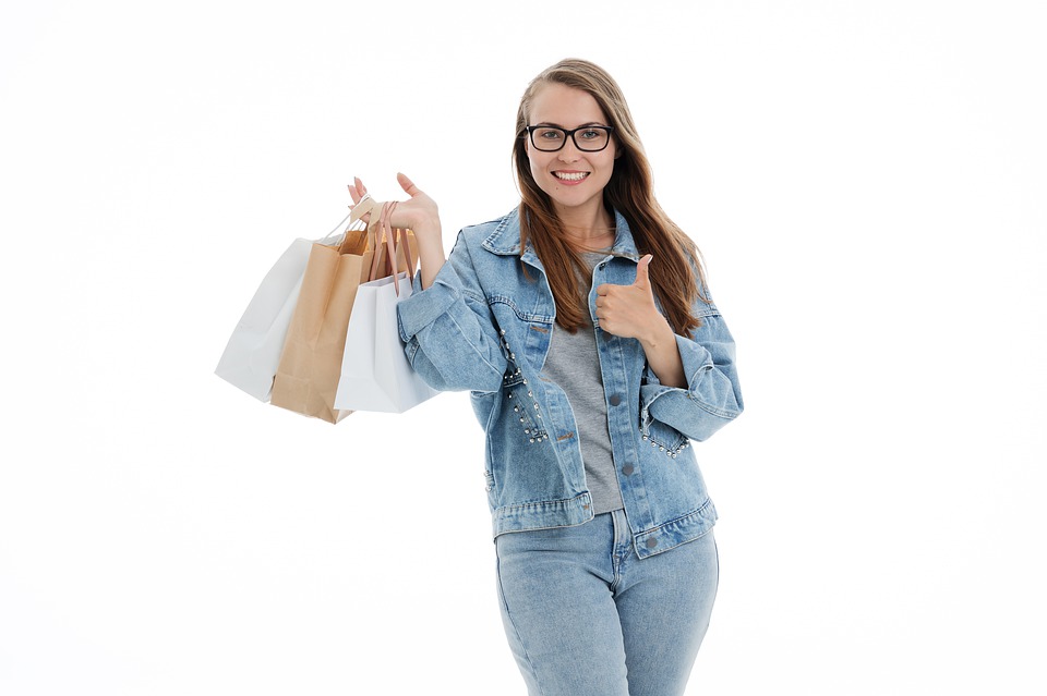
{"type": "Polygon", "coordinates": [[[212,371],[353,175],[447,248],[512,208],[568,56],[738,342],[688,694],[1044,693],[1042,8],[4,0],[0,694],[525,693],[467,396],[330,426],[212,371]]]}

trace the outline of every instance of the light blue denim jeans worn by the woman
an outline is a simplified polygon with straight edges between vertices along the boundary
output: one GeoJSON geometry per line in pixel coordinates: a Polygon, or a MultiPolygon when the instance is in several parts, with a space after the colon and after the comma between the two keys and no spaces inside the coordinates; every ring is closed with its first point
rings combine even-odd
{"type": "Polygon", "coordinates": [[[617,510],[495,541],[502,620],[531,696],[684,693],[717,596],[711,532],[641,560],[617,510]]]}

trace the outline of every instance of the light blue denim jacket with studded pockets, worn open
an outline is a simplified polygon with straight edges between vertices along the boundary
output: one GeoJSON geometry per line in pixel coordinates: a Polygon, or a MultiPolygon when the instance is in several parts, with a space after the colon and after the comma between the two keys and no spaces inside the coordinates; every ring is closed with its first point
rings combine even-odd
{"type": "MultiPolygon", "coordinates": [[[[593,269],[589,313],[618,486],[634,547],[645,558],[715,523],[689,440],[705,440],[735,418],[742,394],[734,341],[713,304],[699,301],[701,327],[691,338],[676,337],[687,389],[660,384],[639,341],[600,330],[595,288],[633,283],[639,260],[625,218],[616,212],[615,221],[612,255],[593,269]]],[[[472,392],[486,431],[494,536],[593,517],[575,414],[542,375],[555,316],[542,262],[530,245],[520,255],[515,210],[464,229],[433,284],[422,291],[416,280],[398,306],[400,337],[419,375],[435,389],[472,392]]]]}

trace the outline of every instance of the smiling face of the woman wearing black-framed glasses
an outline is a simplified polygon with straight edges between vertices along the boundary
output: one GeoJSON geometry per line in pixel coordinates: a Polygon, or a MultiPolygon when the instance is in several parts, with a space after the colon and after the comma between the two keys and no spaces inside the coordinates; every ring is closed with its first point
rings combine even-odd
{"type": "MultiPolygon", "coordinates": [[[[539,88],[531,100],[528,125],[555,125],[567,131],[583,125],[611,125],[589,93],[558,83],[539,88]]],[[[581,132],[575,134],[581,142],[581,132]]],[[[603,187],[614,170],[614,138],[599,152],[579,150],[569,136],[555,152],[543,152],[526,141],[531,175],[563,213],[595,215],[603,205],[603,187]]]]}

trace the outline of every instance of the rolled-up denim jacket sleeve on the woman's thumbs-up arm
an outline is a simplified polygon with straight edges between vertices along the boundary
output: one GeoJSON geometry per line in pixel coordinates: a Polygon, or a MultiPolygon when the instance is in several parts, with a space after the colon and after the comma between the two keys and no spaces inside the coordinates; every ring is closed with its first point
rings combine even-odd
{"type": "Polygon", "coordinates": [[[650,366],[645,369],[640,387],[640,429],[645,435],[651,423],[659,420],[693,440],[706,440],[742,413],[734,339],[714,304],[699,301],[695,309],[701,326],[691,338],[676,337],[687,388],[663,386],[650,366]]]}

